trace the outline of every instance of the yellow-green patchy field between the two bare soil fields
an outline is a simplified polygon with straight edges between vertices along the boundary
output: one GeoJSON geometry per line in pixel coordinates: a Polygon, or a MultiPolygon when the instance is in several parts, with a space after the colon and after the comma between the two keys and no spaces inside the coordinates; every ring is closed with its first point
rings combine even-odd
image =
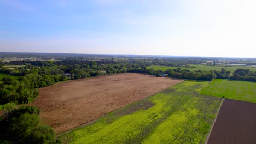
{"type": "Polygon", "coordinates": [[[199,94],[209,83],[178,83],[59,137],[64,143],[203,143],[222,100],[199,94]]]}

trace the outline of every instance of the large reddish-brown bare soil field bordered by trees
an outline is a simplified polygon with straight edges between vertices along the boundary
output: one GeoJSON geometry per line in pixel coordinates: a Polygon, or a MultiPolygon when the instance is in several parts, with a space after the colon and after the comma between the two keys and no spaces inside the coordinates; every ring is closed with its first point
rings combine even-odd
{"type": "Polygon", "coordinates": [[[40,88],[32,105],[60,134],[182,81],[136,73],[71,80],[40,88]]]}

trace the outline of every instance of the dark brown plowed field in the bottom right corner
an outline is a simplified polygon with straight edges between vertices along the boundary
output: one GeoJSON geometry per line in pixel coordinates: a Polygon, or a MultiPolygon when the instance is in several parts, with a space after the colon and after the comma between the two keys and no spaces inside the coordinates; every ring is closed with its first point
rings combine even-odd
{"type": "Polygon", "coordinates": [[[256,103],[225,99],[213,126],[210,143],[255,143],[256,103]]]}

